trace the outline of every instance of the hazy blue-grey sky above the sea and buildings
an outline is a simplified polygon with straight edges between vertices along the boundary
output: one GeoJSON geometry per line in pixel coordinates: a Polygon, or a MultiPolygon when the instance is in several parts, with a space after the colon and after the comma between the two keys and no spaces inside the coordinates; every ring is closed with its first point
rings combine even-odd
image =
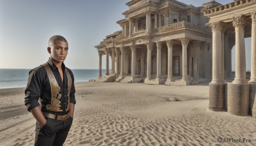
{"type": "MultiPolygon", "coordinates": [[[[65,65],[70,69],[99,69],[97,46],[121,30],[130,0],[0,0],[0,69],[33,69],[49,58],[48,40],[62,35],[69,43],[65,65]]],[[[202,6],[210,0],[179,0],[202,6]]],[[[216,0],[227,4],[233,0],[216,0]]],[[[232,50],[235,69],[235,49],[232,50]]],[[[246,39],[250,70],[250,39],[246,39]]],[[[102,69],[105,69],[105,55],[102,69]]],[[[110,63],[111,69],[111,63],[110,63]]]]}

